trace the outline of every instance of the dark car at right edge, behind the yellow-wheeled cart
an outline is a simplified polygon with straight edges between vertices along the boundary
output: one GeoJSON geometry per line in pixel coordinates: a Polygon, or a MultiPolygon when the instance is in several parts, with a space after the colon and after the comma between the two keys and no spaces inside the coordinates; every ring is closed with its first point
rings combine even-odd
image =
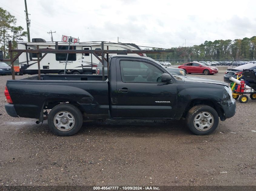
{"type": "MultiPolygon", "coordinates": [[[[250,69],[255,70],[256,69],[256,63],[249,63],[246,65],[241,65],[235,68],[227,69],[225,75],[224,75],[224,82],[232,83],[232,81],[229,79],[230,77],[237,78],[238,74],[243,73],[243,69],[250,69]]],[[[243,76],[241,77],[243,79],[243,76]]]]}

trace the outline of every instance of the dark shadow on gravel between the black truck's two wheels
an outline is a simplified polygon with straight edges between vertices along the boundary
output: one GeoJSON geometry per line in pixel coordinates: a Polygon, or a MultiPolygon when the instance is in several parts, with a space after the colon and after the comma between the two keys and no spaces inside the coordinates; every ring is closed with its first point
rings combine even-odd
{"type": "Polygon", "coordinates": [[[192,134],[183,120],[104,120],[85,122],[78,133],[86,134],[89,131],[90,134],[105,135],[106,133],[112,133],[121,136],[155,136],[159,133],[192,134]]]}

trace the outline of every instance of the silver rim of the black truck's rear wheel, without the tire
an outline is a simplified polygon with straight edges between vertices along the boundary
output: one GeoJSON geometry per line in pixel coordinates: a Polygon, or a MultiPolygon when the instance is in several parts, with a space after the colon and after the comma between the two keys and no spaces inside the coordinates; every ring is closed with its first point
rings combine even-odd
{"type": "Polygon", "coordinates": [[[69,131],[75,125],[75,118],[67,111],[60,111],[54,116],[53,123],[58,130],[69,131]]]}

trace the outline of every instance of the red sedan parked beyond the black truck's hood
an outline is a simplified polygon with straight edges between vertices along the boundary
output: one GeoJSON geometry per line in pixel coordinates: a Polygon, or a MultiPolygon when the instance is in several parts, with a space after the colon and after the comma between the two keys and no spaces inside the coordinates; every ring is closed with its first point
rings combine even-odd
{"type": "Polygon", "coordinates": [[[189,62],[189,63],[180,65],[178,68],[184,69],[186,74],[198,73],[198,74],[204,74],[204,75],[210,75],[210,74],[212,75],[212,74],[218,73],[218,68],[207,66],[199,62],[189,62]]]}

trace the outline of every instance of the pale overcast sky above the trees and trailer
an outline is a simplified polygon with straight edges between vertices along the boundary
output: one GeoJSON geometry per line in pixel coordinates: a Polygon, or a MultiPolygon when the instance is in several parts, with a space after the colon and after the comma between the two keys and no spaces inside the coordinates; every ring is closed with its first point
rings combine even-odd
{"type": "MultiPolygon", "coordinates": [[[[0,6],[26,30],[24,0],[0,6]]],[[[205,40],[256,36],[256,1],[27,0],[30,38],[55,41],[61,35],[85,41],[119,41],[170,48],[205,40]]],[[[27,38],[24,38],[27,41],[27,38]]]]}

